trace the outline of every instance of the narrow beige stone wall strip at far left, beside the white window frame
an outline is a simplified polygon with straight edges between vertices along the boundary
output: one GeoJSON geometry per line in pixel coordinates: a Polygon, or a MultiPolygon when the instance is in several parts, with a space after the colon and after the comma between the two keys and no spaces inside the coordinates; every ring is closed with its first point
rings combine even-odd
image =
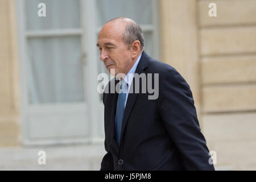
{"type": "Polygon", "coordinates": [[[0,147],[20,144],[14,1],[0,1],[0,147]]]}

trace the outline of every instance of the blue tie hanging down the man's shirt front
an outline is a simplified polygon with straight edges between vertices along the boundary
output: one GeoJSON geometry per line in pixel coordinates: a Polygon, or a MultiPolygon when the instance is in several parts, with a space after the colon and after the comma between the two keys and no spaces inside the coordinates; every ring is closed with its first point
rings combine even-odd
{"type": "MultiPolygon", "coordinates": [[[[123,84],[126,84],[126,82],[120,81],[119,84],[121,84],[120,89],[122,90],[122,86],[123,86],[123,84]]],[[[119,147],[119,143],[120,143],[123,113],[125,111],[125,99],[126,99],[126,90],[125,90],[125,93],[119,92],[118,99],[117,99],[117,110],[115,112],[115,141],[117,142],[118,147],[119,147]]]]}

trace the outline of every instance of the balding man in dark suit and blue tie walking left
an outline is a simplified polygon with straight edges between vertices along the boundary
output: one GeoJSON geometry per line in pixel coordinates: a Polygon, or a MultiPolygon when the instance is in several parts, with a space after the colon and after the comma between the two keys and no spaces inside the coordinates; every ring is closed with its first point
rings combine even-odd
{"type": "Polygon", "coordinates": [[[124,85],[128,91],[112,93],[109,85],[104,91],[107,154],[101,170],[214,170],[189,85],[176,69],[144,52],[141,27],[128,18],[110,20],[98,34],[97,47],[106,69],[117,77],[109,85],[122,82],[117,88],[124,85]],[[148,99],[141,85],[139,93],[133,92],[134,78],[127,75],[136,73],[158,74],[156,99],[148,99]]]}

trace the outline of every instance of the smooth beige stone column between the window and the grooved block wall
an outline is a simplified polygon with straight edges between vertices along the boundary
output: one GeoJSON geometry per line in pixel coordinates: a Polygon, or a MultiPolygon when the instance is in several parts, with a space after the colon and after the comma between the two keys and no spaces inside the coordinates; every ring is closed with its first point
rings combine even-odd
{"type": "Polygon", "coordinates": [[[188,82],[200,118],[197,1],[161,0],[159,3],[162,61],[177,69],[188,82]]]}

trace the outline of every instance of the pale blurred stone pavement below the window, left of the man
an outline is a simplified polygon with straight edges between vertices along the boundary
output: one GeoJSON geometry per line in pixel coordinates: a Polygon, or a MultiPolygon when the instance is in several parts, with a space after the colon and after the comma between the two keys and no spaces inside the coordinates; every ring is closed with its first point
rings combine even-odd
{"type": "Polygon", "coordinates": [[[1,170],[100,170],[104,144],[0,148],[1,170]],[[39,165],[39,151],[46,152],[46,164],[39,165]]]}

